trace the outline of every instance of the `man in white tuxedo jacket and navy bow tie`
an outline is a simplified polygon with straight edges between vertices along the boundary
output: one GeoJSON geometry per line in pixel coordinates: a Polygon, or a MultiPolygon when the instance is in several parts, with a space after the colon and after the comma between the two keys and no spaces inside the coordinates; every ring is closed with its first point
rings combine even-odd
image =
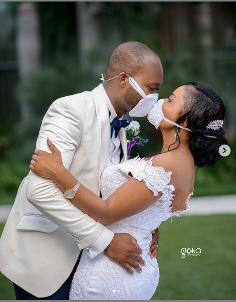
{"type": "MultiPolygon", "coordinates": [[[[49,151],[49,137],[64,166],[98,195],[102,171],[126,159],[126,138],[120,129],[125,123],[119,118],[141,99],[130,77],[147,95],[162,83],[159,57],[139,42],[126,42],[114,50],[103,84],[56,100],[37,139],[36,149],[49,151]]],[[[153,235],[152,255],[157,253],[158,235],[158,231],[153,235]]],[[[91,258],[105,251],[130,273],[145,265],[136,239],[114,234],[71,204],[52,180],[30,171],[0,239],[0,271],[12,280],[17,300],[68,300],[81,249],[91,258]]]]}

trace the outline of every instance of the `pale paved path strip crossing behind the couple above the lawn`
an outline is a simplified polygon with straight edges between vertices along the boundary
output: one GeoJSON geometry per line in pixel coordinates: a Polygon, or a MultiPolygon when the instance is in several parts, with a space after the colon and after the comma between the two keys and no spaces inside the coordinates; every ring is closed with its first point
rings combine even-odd
{"type": "MultiPolygon", "coordinates": [[[[0,224],[5,223],[11,206],[0,206],[0,224]]],[[[236,195],[192,197],[182,215],[236,214],[236,195]]]]}

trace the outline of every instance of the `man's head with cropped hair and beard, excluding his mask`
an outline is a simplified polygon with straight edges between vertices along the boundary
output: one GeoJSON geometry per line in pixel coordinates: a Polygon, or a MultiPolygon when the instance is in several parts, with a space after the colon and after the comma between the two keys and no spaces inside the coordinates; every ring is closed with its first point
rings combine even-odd
{"type": "Polygon", "coordinates": [[[142,99],[142,94],[130,85],[129,76],[133,77],[146,95],[156,93],[162,84],[161,61],[143,43],[122,43],[109,59],[103,87],[118,117],[133,109],[142,99]]]}

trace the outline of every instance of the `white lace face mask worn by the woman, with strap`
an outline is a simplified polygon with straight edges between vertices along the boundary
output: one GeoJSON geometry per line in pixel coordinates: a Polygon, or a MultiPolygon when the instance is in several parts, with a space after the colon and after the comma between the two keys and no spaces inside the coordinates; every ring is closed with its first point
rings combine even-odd
{"type": "MultiPolygon", "coordinates": [[[[152,107],[152,109],[150,110],[150,112],[148,113],[148,120],[151,124],[153,124],[156,129],[158,129],[161,125],[161,122],[163,120],[167,121],[168,123],[171,123],[181,129],[193,132],[192,130],[190,130],[189,128],[180,126],[179,124],[169,120],[168,118],[166,118],[164,116],[163,110],[162,110],[162,105],[164,103],[165,99],[162,98],[161,100],[159,100],[158,102],[156,102],[156,104],[154,104],[154,106],[152,107]]],[[[208,137],[208,138],[217,138],[216,136],[211,136],[211,135],[206,135],[203,134],[204,136],[208,137]]]]}

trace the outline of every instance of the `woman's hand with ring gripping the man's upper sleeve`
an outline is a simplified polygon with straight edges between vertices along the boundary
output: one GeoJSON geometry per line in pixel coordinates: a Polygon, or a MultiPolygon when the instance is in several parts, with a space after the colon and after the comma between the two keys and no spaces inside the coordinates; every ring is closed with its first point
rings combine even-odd
{"type": "Polygon", "coordinates": [[[31,171],[42,177],[54,179],[57,173],[64,169],[64,166],[61,160],[60,151],[53,145],[49,138],[47,143],[52,153],[35,150],[29,168],[31,171]]]}

